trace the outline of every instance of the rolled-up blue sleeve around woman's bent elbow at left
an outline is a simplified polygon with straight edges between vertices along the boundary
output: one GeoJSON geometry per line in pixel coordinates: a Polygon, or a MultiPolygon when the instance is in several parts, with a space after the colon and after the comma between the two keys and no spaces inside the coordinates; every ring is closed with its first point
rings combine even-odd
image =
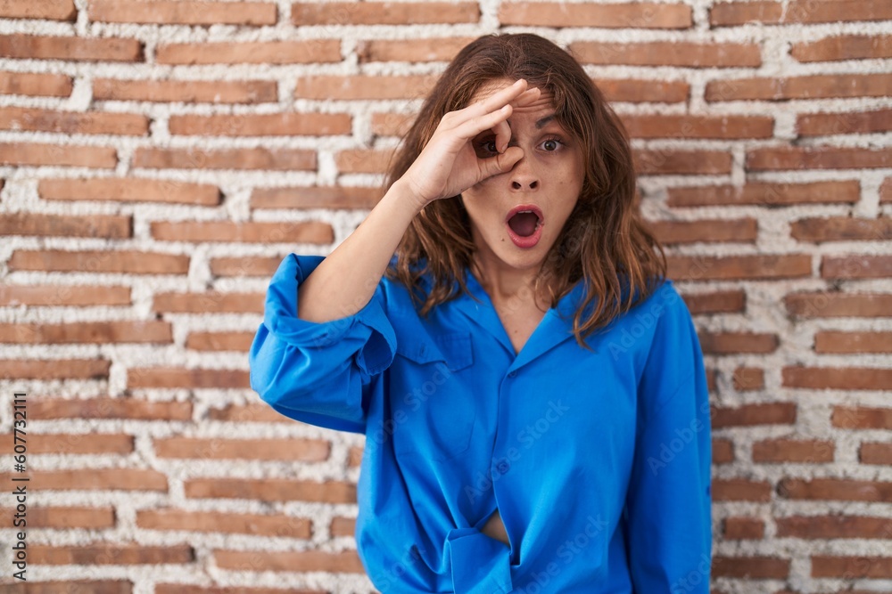
{"type": "Polygon", "coordinates": [[[390,366],[396,337],[380,284],[353,315],[321,323],[297,317],[300,285],[323,259],[291,254],[279,264],[249,353],[251,387],[292,419],[363,433],[366,387],[390,366]]]}

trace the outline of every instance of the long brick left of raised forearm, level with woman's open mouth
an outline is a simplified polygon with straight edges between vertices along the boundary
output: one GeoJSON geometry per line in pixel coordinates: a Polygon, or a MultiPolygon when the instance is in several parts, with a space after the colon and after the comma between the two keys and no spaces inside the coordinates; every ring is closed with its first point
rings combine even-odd
{"type": "Polygon", "coordinates": [[[330,224],[319,221],[293,221],[288,223],[233,223],[209,221],[206,223],[169,223],[159,221],[151,225],[152,237],[161,241],[194,241],[198,243],[239,241],[248,243],[318,243],[335,240],[330,224]]]}

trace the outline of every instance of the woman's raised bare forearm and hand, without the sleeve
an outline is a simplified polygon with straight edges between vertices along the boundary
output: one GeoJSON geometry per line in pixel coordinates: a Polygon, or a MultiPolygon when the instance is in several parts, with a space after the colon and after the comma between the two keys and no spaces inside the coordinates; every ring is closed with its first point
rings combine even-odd
{"type": "Polygon", "coordinates": [[[538,97],[538,89],[527,89],[520,80],[483,102],[446,114],[405,175],[301,285],[298,317],[321,322],[359,312],[375,294],[412,219],[428,203],[504,173],[523,157],[521,149],[508,149],[511,131],[506,120],[512,102],[526,104],[538,97]],[[490,129],[500,154],[478,159],[470,141],[490,129]]]}

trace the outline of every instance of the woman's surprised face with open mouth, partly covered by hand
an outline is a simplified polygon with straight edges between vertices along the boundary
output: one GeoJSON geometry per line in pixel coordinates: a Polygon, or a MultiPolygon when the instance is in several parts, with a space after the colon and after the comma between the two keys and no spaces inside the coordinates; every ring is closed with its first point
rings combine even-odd
{"type": "MultiPolygon", "coordinates": [[[[513,81],[483,85],[471,102],[483,99],[513,81]]],[[[558,239],[582,191],[584,165],[578,142],[554,118],[553,97],[542,93],[528,105],[515,106],[508,126],[509,146],[524,157],[508,171],[463,191],[477,255],[484,262],[517,270],[541,265],[558,239]]],[[[473,141],[480,158],[495,153],[491,131],[473,141]]]]}

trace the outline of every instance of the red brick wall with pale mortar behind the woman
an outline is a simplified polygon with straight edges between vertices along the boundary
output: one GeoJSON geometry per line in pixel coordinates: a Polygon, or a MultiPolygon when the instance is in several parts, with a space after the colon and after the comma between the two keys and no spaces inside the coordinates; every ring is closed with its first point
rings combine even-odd
{"type": "Polygon", "coordinates": [[[709,369],[714,591],[890,590],[888,0],[0,18],[0,491],[13,390],[31,478],[30,586],[0,591],[373,591],[362,437],[259,403],[245,353],[279,260],[351,232],[446,61],[499,30],[569,46],[632,136],[709,369]]]}

